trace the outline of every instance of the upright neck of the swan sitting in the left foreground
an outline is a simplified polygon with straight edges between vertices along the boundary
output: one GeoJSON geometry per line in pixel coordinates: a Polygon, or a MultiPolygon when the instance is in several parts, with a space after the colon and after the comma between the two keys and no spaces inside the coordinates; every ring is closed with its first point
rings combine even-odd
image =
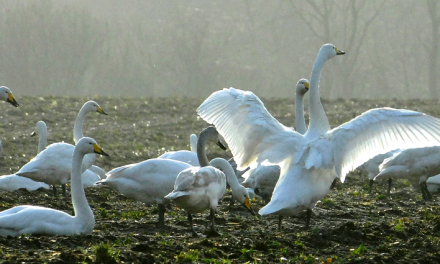
{"type": "Polygon", "coordinates": [[[71,191],[72,191],[72,204],[75,211],[75,217],[81,218],[82,221],[87,222],[86,219],[93,219],[93,212],[87,202],[86,194],[81,179],[81,165],[84,154],[80,149],[75,147],[72,157],[72,175],[71,175],[71,191]]]}

